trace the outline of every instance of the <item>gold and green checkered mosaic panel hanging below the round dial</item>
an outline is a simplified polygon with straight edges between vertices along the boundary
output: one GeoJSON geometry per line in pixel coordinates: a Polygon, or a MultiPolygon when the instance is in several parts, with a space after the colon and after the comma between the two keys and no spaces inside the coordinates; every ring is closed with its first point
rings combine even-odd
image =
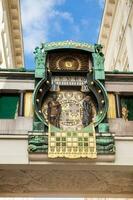
{"type": "Polygon", "coordinates": [[[57,132],[49,133],[49,158],[96,158],[95,128],[90,133],[57,132]]]}

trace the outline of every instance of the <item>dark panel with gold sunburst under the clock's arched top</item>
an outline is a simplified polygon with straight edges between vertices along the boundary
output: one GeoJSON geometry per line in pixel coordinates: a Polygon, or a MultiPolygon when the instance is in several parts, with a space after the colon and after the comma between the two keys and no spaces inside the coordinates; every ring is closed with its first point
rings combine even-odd
{"type": "Polygon", "coordinates": [[[92,68],[89,54],[80,51],[57,51],[48,54],[51,71],[88,71],[92,68]]]}

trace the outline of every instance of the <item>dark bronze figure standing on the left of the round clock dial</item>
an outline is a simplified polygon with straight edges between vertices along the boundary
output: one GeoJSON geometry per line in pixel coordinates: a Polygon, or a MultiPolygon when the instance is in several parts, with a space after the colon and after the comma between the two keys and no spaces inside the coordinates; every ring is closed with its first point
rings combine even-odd
{"type": "Polygon", "coordinates": [[[57,95],[54,94],[51,101],[48,102],[48,120],[50,124],[60,127],[60,114],[61,114],[61,104],[57,101],[57,95]]]}

